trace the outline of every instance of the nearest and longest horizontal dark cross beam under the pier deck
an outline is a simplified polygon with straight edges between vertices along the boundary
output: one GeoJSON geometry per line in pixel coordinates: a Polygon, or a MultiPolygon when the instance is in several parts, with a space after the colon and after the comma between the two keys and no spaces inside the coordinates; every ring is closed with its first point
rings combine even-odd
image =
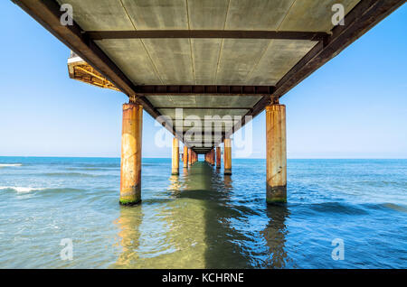
{"type": "Polygon", "coordinates": [[[104,39],[285,39],[320,41],[326,32],[228,31],[228,30],[145,30],[89,31],[92,40],[104,39]]]}

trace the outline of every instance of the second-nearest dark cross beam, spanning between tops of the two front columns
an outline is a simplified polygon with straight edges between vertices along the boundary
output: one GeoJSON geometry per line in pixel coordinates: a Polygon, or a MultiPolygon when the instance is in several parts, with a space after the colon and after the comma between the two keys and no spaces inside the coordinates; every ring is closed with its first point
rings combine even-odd
{"type": "Polygon", "coordinates": [[[137,86],[139,96],[261,96],[274,92],[273,86],[198,86],[198,85],[146,85],[137,86]]]}

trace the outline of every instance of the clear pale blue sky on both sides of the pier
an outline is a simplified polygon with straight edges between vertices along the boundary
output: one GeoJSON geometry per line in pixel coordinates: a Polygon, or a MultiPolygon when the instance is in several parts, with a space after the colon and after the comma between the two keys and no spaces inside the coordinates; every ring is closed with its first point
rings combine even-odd
{"type": "MultiPolygon", "coordinates": [[[[11,1],[0,1],[0,156],[120,154],[121,93],[69,79],[69,49],[11,1]]],[[[280,99],[289,158],[407,158],[407,5],[280,99]]],[[[265,115],[253,120],[265,157],[265,115]]],[[[145,113],[144,157],[158,148],[145,113]]]]}

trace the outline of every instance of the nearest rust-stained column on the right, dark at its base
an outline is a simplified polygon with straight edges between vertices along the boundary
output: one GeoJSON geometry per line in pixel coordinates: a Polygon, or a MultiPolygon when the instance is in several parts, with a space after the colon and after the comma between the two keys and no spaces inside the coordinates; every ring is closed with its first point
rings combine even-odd
{"type": "Polygon", "coordinates": [[[287,202],[286,106],[266,107],[267,202],[287,202]]]}

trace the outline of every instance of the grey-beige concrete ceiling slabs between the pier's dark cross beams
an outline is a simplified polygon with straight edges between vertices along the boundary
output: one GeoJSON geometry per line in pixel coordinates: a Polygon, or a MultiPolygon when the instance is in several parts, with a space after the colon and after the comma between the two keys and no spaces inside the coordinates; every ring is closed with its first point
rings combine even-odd
{"type": "MultiPolygon", "coordinates": [[[[329,32],[332,5],[359,0],[58,0],[90,31],[249,30],[329,32]]],[[[265,39],[96,41],[135,85],[274,86],[317,42],[265,39]]],[[[162,115],[243,116],[260,96],[148,96],[162,115]],[[202,107],[241,109],[201,109],[202,107]]],[[[188,127],[185,127],[187,129],[188,127]]]]}

